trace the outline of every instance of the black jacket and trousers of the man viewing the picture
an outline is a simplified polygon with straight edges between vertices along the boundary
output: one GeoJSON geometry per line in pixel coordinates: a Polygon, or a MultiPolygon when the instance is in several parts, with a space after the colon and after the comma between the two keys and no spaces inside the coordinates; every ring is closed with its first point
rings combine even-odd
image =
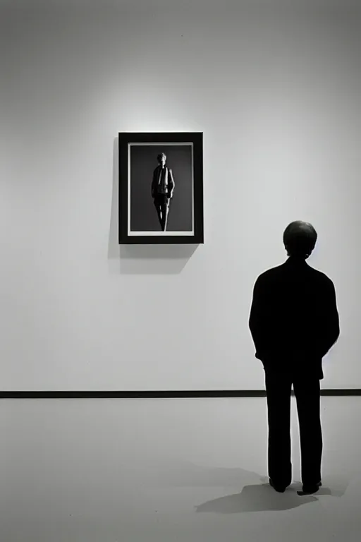
{"type": "Polygon", "coordinates": [[[334,283],[290,257],[259,275],[249,320],[256,358],[265,371],[269,424],[269,478],[279,486],[292,481],[290,388],[297,401],[302,483],[321,480],[322,358],[340,334],[334,283]]]}

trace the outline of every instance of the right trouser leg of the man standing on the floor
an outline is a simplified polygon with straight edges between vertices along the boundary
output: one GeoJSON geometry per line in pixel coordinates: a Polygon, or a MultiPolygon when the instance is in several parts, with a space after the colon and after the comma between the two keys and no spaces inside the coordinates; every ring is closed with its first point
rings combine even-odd
{"type": "Polygon", "coordinates": [[[301,476],[304,485],[321,480],[322,427],[318,376],[294,378],[300,426],[301,476]]]}

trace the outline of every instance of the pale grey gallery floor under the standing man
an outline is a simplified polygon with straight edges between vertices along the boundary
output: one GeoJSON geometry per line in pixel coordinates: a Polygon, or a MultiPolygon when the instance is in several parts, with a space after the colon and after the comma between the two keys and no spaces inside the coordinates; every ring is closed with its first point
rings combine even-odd
{"type": "Polygon", "coordinates": [[[361,397],[322,397],[323,487],[267,483],[264,398],[0,402],[1,542],[357,542],[361,397]]]}

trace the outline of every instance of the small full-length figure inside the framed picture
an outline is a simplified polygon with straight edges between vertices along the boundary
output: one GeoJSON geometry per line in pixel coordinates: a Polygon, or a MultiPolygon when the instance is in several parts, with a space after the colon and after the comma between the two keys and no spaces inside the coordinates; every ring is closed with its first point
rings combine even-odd
{"type": "Polygon", "coordinates": [[[166,155],[161,152],[157,156],[159,165],[154,169],[152,181],[152,198],[157,210],[161,231],[166,231],[169,215],[169,205],[173,198],[174,179],[171,168],[166,166],[166,155]]]}

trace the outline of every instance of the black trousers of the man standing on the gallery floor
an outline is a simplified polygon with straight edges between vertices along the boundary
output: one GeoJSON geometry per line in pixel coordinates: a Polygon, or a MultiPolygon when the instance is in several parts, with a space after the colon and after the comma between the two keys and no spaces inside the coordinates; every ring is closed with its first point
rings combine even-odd
{"type": "Polygon", "coordinates": [[[300,426],[302,483],[321,480],[322,428],[318,375],[292,375],[265,369],[268,411],[269,478],[279,486],[292,482],[290,391],[293,384],[300,426]]]}

